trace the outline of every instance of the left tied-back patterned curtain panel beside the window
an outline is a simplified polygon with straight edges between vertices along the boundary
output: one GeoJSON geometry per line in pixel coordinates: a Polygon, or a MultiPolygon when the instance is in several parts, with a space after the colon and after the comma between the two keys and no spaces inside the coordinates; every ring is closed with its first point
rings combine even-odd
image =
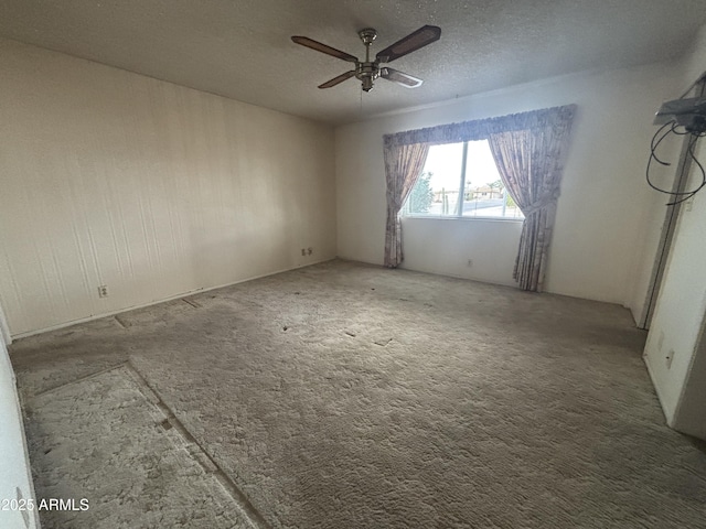
{"type": "Polygon", "coordinates": [[[385,177],[387,180],[385,266],[388,268],[397,268],[402,262],[399,210],[419,180],[428,153],[429,145],[427,143],[395,145],[385,141],[385,177]]]}

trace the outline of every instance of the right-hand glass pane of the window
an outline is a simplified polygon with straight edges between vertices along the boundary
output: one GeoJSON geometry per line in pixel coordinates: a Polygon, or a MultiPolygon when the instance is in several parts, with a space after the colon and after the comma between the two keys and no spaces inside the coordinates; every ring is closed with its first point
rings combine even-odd
{"type": "Polygon", "coordinates": [[[463,216],[524,218],[498,172],[486,140],[469,141],[463,216]]]}

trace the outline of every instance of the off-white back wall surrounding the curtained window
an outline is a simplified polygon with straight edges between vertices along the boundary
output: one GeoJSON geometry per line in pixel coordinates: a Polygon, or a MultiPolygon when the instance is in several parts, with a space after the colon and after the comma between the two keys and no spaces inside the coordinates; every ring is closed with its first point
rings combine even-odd
{"type": "MultiPolygon", "coordinates": [[[[338,128],[339,256],[383,262],[383,134],[576,102],[578,112],[558,203],[546,290],[625,305],[633,300],[642,303],[644,293],[637,295],[634,290],[648,244],[645,220],[654,214],[655,204],[654,194],[644,183],[648,149],[654,133],[652,119],[659,104],[674,97],[682,84],[678,64],[652,64],[546,79],[338,128]]],[[[453,233],[449,223],[453,220],[405,220],[404,266],[462,274],[460,270],[469,258],[480,263],[498,256],[495,269],[479,268],[472,277],[512,281],[517,228],[506,225],[507,229],[486,237],[494,226],[488,222],[459,220],[453,233]],[[460,237],[460,233],[464,236],[460,237]],[[431,240],[439,248],[434,256],[420,244],[431,240]],[[505,256],[512,256],[512,262],[505,262],[505,256]]]]}

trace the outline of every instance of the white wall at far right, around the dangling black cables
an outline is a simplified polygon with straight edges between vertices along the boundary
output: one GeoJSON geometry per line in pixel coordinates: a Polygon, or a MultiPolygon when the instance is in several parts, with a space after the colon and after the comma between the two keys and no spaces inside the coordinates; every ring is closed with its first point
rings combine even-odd
{"type": "MultiPolygon", "coordinates": [[[[706,71],[706,26],[684,65],[684,88],[706,71]]],[[[673,98],[681,93],[673,94],[673,98]]],[[[697,158],[706,160],[706,140],[697,158]]],[[[692,166],[687,188],[700,183],[692,166]]],[[[675,429],[706,439],[706,195],[683,207],[644,350],[664,414],[675,429]],[[671,357],[671,366],[667,363],[671,357]]]]}

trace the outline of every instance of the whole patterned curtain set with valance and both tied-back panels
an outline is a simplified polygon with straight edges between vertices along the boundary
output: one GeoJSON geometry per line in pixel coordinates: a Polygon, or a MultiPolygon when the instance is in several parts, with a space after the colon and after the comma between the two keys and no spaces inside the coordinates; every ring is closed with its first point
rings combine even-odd
{"type": "Polygon", "coordinates": [[[542,292],[547,253],[576,105],[385,134],[387,231],[385,266],[402,262],[399,209],[424,168],[428,148],[488,140],[501,179],[525,215],[514,277],[523,290],[542,292]]]}

